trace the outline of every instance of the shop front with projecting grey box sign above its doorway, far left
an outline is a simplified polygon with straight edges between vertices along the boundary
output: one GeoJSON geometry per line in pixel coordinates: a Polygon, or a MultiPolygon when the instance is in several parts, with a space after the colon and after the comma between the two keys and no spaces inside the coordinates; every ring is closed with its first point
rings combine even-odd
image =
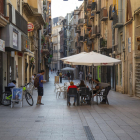
{"type": "Polygon", "coordinates": [[[13,79],[17,80],[18,86],[18,51],[21,51],[21,32],[12,24],[1,30],[1,38],[5,41],[5,63],[3,71],[5,75],[5,86],[13,79]]]}

